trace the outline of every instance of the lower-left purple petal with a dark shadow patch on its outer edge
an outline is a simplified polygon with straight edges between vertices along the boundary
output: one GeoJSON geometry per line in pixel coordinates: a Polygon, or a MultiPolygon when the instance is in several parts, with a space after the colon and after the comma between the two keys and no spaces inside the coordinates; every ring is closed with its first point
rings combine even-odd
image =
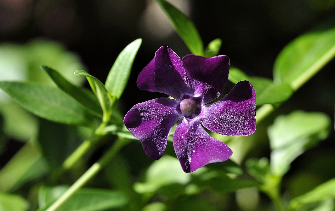
{"type": "Polygon", "coordinates": [[[149,100],[134,105],[124,118],[125,126],[153,160],[163,155],[167,136],[180,118],[177,104],[176,100],[164,97],[149,100]]]}

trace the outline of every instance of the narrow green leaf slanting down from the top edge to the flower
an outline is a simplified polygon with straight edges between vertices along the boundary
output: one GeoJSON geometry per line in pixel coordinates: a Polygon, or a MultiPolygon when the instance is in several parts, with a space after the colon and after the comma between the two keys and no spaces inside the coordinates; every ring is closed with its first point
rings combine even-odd
{"type": "Polygon", "coordinates": [[[165,0],[156,0],[192,54],[204,56],[204,47],[194,23],[165,0]]]}

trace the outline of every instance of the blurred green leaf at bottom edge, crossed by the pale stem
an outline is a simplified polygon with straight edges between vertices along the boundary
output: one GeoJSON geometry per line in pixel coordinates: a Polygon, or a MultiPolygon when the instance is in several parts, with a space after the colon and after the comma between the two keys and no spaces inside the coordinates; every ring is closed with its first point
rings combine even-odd
{"type": "MultiPolygon", "coordinates": [[[[41,187],[39,191],[39,211],[45,210],[58,197],[60,197],[66,186],[41,187]]],[[[79,189],[67,202],[57,211],[103,211],[120,208],[126,205],[128,199],[119,191],[97,188],[79,189]]]]}

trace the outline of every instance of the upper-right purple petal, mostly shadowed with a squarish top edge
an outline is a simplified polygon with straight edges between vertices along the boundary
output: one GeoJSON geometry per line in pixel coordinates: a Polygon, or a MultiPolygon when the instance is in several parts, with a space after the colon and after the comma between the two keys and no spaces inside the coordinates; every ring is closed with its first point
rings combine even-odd
{"type": "Polygon", "coordinates": [[[203,104],[220,96],[228,82],[227,56],[206,58],[190,54],[183,58],[183,65],[190,76],[194,95],[201,96],[203,104]]]}

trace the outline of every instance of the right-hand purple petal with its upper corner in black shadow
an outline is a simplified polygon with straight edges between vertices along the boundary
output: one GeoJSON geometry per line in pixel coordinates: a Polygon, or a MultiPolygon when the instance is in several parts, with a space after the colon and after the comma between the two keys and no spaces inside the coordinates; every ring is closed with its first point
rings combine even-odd
{"type": "Polygon", "coordinates": [[[247,136],[256,130],[256,94],[249,81],[240,81],[217,102],[203,106],[199,119],[208,130],[247,136]]]}

